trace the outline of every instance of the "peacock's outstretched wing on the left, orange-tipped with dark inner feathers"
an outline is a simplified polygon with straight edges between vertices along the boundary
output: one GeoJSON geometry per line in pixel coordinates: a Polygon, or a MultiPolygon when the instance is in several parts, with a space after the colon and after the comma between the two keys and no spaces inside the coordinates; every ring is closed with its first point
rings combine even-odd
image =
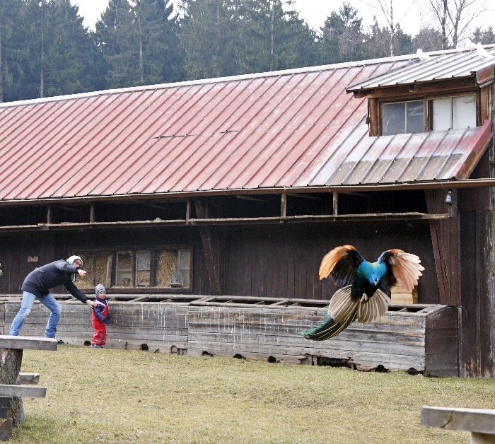
{"type": "Polygon", "coordinates": [[[320,264],[320,280],[330,275],[341,288],[356,280],[356,271],[363,257],[352,245],[335,247],[323,257],[320,264]]]}

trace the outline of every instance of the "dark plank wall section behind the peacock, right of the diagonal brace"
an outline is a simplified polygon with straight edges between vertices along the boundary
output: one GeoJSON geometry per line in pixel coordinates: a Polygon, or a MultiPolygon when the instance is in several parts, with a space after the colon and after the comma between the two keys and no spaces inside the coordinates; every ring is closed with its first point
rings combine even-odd
{"type": "Polygon", "coordinates": [[[439,303],[427,222],[231,227],[221,258],[222,293],[330,299],[336,287],[330,279],[320,281],[320,261],[333,247],[345,244],[373,261],[389,248],[419,255],[426,268],[419,281],[419,303],[439,303]]]}

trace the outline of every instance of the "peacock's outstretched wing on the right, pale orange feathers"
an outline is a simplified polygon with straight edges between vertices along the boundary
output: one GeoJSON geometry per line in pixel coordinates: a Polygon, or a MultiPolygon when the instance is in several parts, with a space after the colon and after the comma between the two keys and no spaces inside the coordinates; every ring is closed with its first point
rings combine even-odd
{"type": "Polygon", "coordinates": [[[390,294],[390,287],[398,283],[407,291],[412,291],[418,284],[419,276],[424,267],[417,255],[406,253],[402,250],[387,250],[378,258],[378,262],[387,265],[387,273],[380,281],[380,288],[385,293],[390,294]]]}

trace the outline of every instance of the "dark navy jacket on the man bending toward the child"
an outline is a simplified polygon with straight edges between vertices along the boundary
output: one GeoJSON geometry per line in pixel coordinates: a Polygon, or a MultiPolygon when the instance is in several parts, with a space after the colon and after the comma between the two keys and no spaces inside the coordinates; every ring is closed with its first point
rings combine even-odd
{"type": "Polygon", "coordinates": [[[21,290],[33,293],[33,295],[42,298],[50,293],[50,288],[63,285],[74,298],[86,303],[88,297],[71,280],[71,274],[77,273],[79,269],[81,267],[71,265],[63,259],[50,262],[50,264],[43,265],[31,271],[25,277],[21,290]]]}

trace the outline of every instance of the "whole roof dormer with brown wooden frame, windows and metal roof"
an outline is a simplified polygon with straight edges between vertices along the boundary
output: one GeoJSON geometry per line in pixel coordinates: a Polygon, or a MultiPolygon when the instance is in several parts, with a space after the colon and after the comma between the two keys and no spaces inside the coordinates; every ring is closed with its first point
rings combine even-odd
{"type": "Polygon", "coordinates": [[[495,47],[490,57],[476,51],[421,54],[421,59],[347,86],[368,97],[371,136],[479,127],[491,116],[495,47]]]}

